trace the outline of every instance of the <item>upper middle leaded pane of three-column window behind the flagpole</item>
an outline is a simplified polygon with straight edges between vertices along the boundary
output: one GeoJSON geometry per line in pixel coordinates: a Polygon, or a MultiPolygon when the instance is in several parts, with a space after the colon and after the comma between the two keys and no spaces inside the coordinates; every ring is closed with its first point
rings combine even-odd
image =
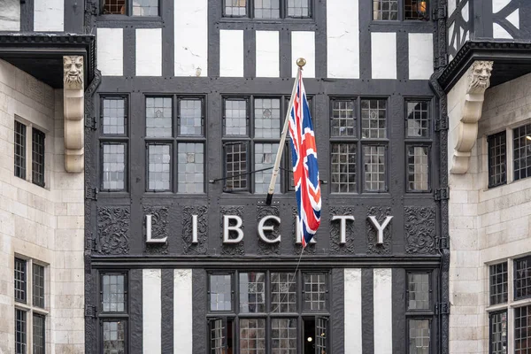
{"type": "Polygon", "coordinates": [[[281,136],[281,100],[257,98],[255,103],[255,137],[279,138],[281,136]]]}

